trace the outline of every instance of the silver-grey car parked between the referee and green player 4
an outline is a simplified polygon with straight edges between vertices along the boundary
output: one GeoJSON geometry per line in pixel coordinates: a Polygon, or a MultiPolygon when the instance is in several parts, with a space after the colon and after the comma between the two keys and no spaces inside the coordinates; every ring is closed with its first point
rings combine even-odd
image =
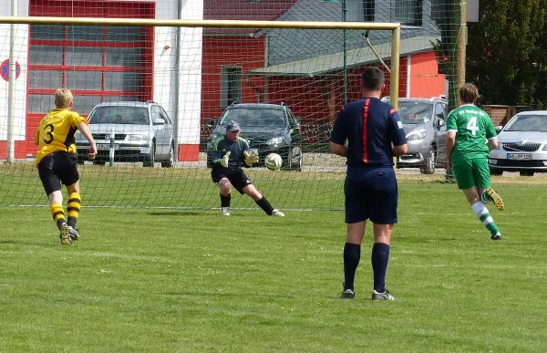
{"type": "MultiPolygon", "coordinates": [[[[388,98],[382,99],[389,102],[388,98]]],[[[446,166],[448,102],[446,99],[398,99],[398,115],[408,140],[408,152],[397,159],[397,168],[419,168],[433,174],[446,166]]]]}

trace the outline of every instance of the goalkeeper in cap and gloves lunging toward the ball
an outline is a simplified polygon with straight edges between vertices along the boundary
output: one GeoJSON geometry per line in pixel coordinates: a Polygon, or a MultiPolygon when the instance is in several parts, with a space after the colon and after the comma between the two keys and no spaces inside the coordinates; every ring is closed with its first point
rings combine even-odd
{"type": "Polygon", "coordinates": [[[240,137],[240,132],[239,124],[231,120],[226,125],[226,134],[212,142],[211,177],[221,190],[222,215],[230,215],[233,186],[241,194],[251,196],[266,214],[284,217],[284,213],[274,209],[243,172],[242,162],[251,167],[258,161],[258,152],[249,149],[249,143],[240,137]]]}

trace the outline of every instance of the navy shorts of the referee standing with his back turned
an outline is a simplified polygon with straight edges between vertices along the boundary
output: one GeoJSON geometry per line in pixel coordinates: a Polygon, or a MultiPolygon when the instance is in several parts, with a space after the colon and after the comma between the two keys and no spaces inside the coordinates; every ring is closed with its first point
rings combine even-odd
{"type": "Polygon", "coordinates": [[[348,173],[344,185],[346,223],[397,223],[397,179],[391,167],[348,173]]]}

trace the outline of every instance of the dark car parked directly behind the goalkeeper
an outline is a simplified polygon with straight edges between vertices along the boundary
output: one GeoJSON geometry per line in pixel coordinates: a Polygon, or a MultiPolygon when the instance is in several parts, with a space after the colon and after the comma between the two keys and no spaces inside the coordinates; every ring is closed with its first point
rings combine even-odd
{"type": "Polygon", "coordinates": [[[277,153],[287,170],[302,171],[302,134],[300,119],[294,117],[289,107],[281,104],[235,103],[226,108],[218,123],[208,122],[212,133],[207,143],[207,166],[212,167],[212,141],[226,133],[226,124],[235,120],[242,129],[241,137],[249,141],[249,148],[258,150],[259,162],[263,166],[269,153],[277,153]]]}

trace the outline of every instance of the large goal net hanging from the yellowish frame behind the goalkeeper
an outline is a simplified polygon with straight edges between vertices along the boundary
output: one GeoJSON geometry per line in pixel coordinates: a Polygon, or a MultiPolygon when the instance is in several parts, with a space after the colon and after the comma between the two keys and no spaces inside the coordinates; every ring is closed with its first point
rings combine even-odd
{"type": "MultiPolygon", "coordinates": [[[[394,23],[297,22],[294,2],[239,21],[223,17],[237,10],[224,3],[212,20],[193,3],[31,0],[27,14],[0,18],[0,205],[46,204],[35,135],[57,88],[72,91],[97,142],[88,161],[77,133],[83,202],[98,207],[219,207],[208,152],[233,119],[259,152],[244,171],[275,207],[341,208],[345,160],[328,140],[341,107],[361,97],[363,67],[386,71],[391,99],[444,94],[437,36],[401,39],[394,23]],[[269,153],[282,157],[280,171],[264,167],[269,153]]],[[[255,207],[232,195],[232,207],[255,207]]]]}

